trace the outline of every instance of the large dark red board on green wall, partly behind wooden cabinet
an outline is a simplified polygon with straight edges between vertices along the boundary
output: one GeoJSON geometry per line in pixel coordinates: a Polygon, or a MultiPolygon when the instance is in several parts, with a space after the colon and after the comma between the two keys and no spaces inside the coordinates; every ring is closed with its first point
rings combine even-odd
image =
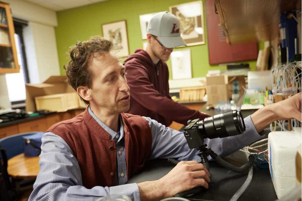
{"type": "MultiPolygon", "coordinates": [[[[220,24],[219,16],[215,13],[214,0],[205,0],[207,16],[207,40],[210,64],[256,60],[258,56],[257,43],[229,45],[220,24]]],[[[238,16],[240,18],[240,16],[238,16]]]]}

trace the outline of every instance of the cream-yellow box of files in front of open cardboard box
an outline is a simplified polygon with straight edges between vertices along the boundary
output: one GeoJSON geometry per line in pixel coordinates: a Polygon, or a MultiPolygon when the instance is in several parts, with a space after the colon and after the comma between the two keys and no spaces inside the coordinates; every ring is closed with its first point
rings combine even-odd
{"type": "Polygon", "coordinates": [[[66,112],[79,107],[79,97],[76,92],[37,96],[35,102],[37,110],[66,112]]]}

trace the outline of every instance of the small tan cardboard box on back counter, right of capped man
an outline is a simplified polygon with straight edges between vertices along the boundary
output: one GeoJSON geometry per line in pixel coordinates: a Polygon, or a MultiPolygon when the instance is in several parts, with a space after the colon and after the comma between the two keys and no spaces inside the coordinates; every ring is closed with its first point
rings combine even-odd
{"type": "Polygon", "coordinates": [[[207,105],[218,104],[219,101],[228,101],[228,85],[210,85],[207,86],[207,105]]]}

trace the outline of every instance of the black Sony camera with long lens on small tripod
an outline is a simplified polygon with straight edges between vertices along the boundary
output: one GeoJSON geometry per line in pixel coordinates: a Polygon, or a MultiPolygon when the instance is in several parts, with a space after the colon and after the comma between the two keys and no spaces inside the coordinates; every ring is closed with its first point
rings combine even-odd
{"type": "Polygon", "coordinates": [[[188,120],[184,135],[189,148],[204,145],[204,138],[223,138],[242,134],[246,127],[240,111],[233,110],[205,118],[188,120]]]}

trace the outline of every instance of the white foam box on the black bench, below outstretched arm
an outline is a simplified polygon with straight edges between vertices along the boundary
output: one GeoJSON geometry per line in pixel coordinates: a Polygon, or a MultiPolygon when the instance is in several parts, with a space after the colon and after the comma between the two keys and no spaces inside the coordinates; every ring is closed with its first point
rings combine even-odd
{"type": "Polygon", "coordinates": [[[295,160],[300,145],[301,128],[268,134],[269,171],[279,199],[297,186],[295,160]]]}

